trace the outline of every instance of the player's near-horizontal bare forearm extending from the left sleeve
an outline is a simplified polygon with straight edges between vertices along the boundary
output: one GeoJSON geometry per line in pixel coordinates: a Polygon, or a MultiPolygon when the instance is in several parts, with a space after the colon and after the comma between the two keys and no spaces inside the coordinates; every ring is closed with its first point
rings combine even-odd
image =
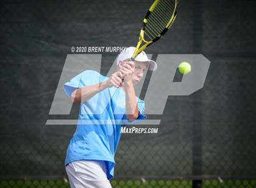
{"type": "Polygon", "coordinates": [[[88,101],[88,99],[92,98],[97,93],[107,88],[107,82],[101,82],[92,86],[81,87],[71,95],[71,101],[74,103],[81,103],[84,101],[88,101]]]}

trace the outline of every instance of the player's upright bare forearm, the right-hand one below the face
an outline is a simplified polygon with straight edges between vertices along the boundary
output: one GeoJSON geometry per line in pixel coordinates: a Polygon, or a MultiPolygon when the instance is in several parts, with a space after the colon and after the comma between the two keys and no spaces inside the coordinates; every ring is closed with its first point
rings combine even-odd
{"type": "Polygon", "coordinates": [[[127,119],[137,119],[138,118],[138,106],[137,99],[135,95],[135,90],[132,83],[126,84],[124,87],[126,90],[126,116],[127,119]]]}

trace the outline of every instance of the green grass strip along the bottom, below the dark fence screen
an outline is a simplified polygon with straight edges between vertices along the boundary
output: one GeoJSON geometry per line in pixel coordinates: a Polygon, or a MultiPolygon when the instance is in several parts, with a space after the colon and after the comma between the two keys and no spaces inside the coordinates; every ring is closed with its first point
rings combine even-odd
{"type": "MultiPolygon", "coordinates": [[[[190,188],[193,186],[192,181],[189,180],[149,180],[149,181],[132,181],[132,180],[112,180],[111,181],[113,188],[167,188],[167,187],[174,187],[174,188],[190,188]]],[[[61,180],[18,180],[18,181],[1,181],[0,187],[70,187],[68,181],[61,181],[61,180]]],[[[255,180],[226,180],[226,181],[218,181],[218,180],[205,180],[202,182],[202,187],[256,187],[255,180]]]]}

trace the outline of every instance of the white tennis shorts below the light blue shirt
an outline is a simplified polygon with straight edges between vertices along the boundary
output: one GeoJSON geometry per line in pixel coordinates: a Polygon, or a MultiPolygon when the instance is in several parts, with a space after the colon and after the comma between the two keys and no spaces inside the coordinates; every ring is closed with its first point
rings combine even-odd
{"type": "Polygon", "coordinates": [[[111,188],[105,161],[73,161],[66,166],[71,188],[111,188]]]}

